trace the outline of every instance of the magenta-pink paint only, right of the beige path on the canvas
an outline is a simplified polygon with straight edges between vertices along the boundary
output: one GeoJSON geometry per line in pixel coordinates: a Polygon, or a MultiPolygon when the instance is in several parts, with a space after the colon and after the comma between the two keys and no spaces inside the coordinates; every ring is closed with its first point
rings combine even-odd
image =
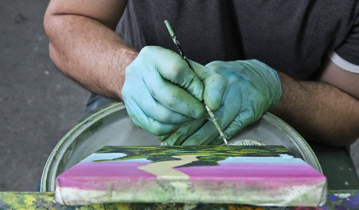
{"type": "Polygon", "coordinates": [[[326,181],[325,176],[306,163],[221,163],[220,166],[175,169],[189,175],[193,183],[210,182],[213,186],[223,183],[228,186],[276,189],[312,186],[326,181]]]}

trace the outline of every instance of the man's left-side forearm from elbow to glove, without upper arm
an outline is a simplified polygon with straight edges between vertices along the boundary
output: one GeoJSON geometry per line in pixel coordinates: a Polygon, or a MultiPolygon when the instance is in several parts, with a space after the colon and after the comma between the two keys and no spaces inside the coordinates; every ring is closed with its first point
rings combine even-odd
{"type": "Polygon", "coordinates": [[[44,24],[51,59],[64,75],[92,92],[121,99],[125,68],[138,54],[134,49],[111,29],[85,16],[49,15],[44,24]]]}

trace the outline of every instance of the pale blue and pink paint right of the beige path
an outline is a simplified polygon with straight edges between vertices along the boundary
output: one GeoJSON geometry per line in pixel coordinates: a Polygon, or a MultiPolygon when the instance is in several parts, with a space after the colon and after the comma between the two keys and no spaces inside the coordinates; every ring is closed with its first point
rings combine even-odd
{"type": "Polygon", "coordinates": [[[299,158],[280,157],[236,157],[218,161],[218,166],[178,167],[193,182],[211,180],[225,183],[246,182],[278,188],[290,185],[312,185],[325,182],[326,177],[299,158]],[[205,175],[205,176],[204,176],[205,175]]]}

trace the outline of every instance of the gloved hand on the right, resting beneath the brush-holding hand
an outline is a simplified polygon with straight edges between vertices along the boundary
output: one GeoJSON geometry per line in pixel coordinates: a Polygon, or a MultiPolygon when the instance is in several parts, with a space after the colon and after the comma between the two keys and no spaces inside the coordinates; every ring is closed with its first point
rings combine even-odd
{"type": "MultiPolygon", "coordinates": [[[[281,86],[278,75],[260,61],[213,61],[206,67],[228,81],[221,108],[215,113],[227,139],[246,125],[257,121],[279,101],[281,86]]],[[[223,143],[213,122],[206,119],[186,123],[176,133],[159,139],[162,141],[161,145],[223,143]]]]}

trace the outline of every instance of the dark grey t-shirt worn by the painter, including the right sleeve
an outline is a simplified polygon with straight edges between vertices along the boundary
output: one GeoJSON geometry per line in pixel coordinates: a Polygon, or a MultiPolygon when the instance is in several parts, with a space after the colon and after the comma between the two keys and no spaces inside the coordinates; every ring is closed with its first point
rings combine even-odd
{"type": "Polygon", "coordinates": [[[306,80],[334,51],[359,72],[358,0],[130,0],[118,27],[132,47],[176,51],[171,24],[188,59],[258,59],[306,80]]]}

